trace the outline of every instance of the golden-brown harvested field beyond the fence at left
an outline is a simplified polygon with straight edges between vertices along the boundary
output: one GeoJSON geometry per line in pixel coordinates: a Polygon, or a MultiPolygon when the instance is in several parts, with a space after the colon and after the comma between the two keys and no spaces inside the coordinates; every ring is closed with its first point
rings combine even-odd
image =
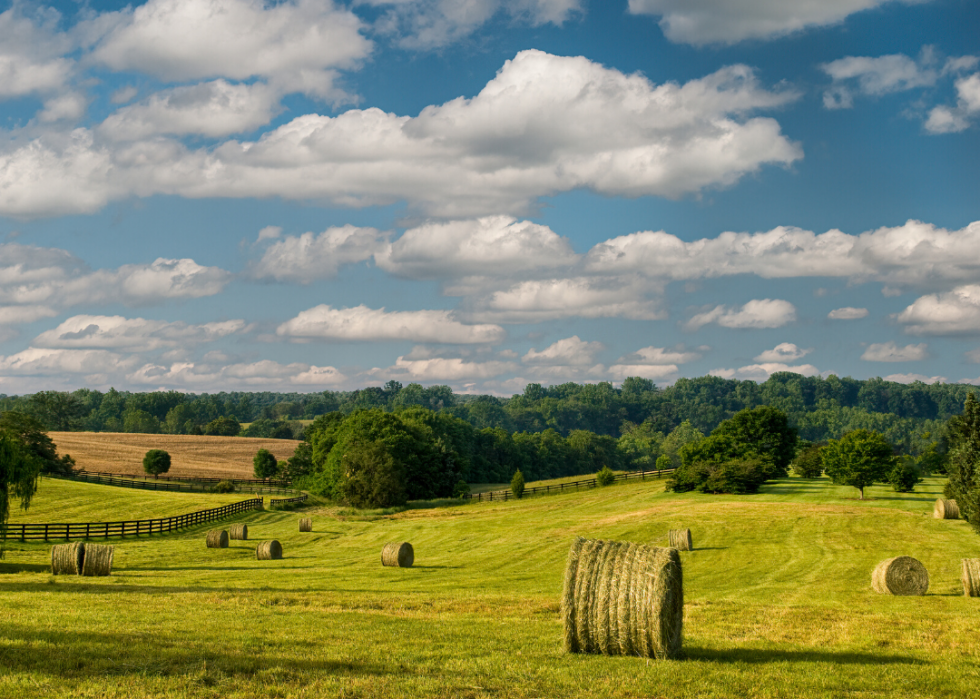
{"type": "Polygon", "coordinates": [[[168,476],[254,478],[252,458],[268,449],[280,461],[293,455],[298,441],[253,437],[206,437],[187,434],[128,432],[49,432],[59,454],[71,454],[86,471],[142,474],[143,456],[150,449],[170,454],[168,476]]]}

